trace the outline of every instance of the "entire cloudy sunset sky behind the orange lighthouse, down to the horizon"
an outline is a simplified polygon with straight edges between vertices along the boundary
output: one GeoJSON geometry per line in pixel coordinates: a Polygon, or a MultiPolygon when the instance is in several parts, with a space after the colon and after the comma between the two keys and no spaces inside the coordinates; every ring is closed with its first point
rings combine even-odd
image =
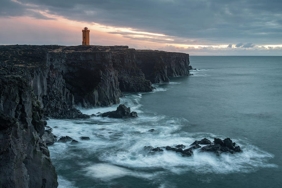
{"type": "Polygon", "coordinates": [[[282,55],[282,0],[1,0],[0,45],[282,55]]]}

